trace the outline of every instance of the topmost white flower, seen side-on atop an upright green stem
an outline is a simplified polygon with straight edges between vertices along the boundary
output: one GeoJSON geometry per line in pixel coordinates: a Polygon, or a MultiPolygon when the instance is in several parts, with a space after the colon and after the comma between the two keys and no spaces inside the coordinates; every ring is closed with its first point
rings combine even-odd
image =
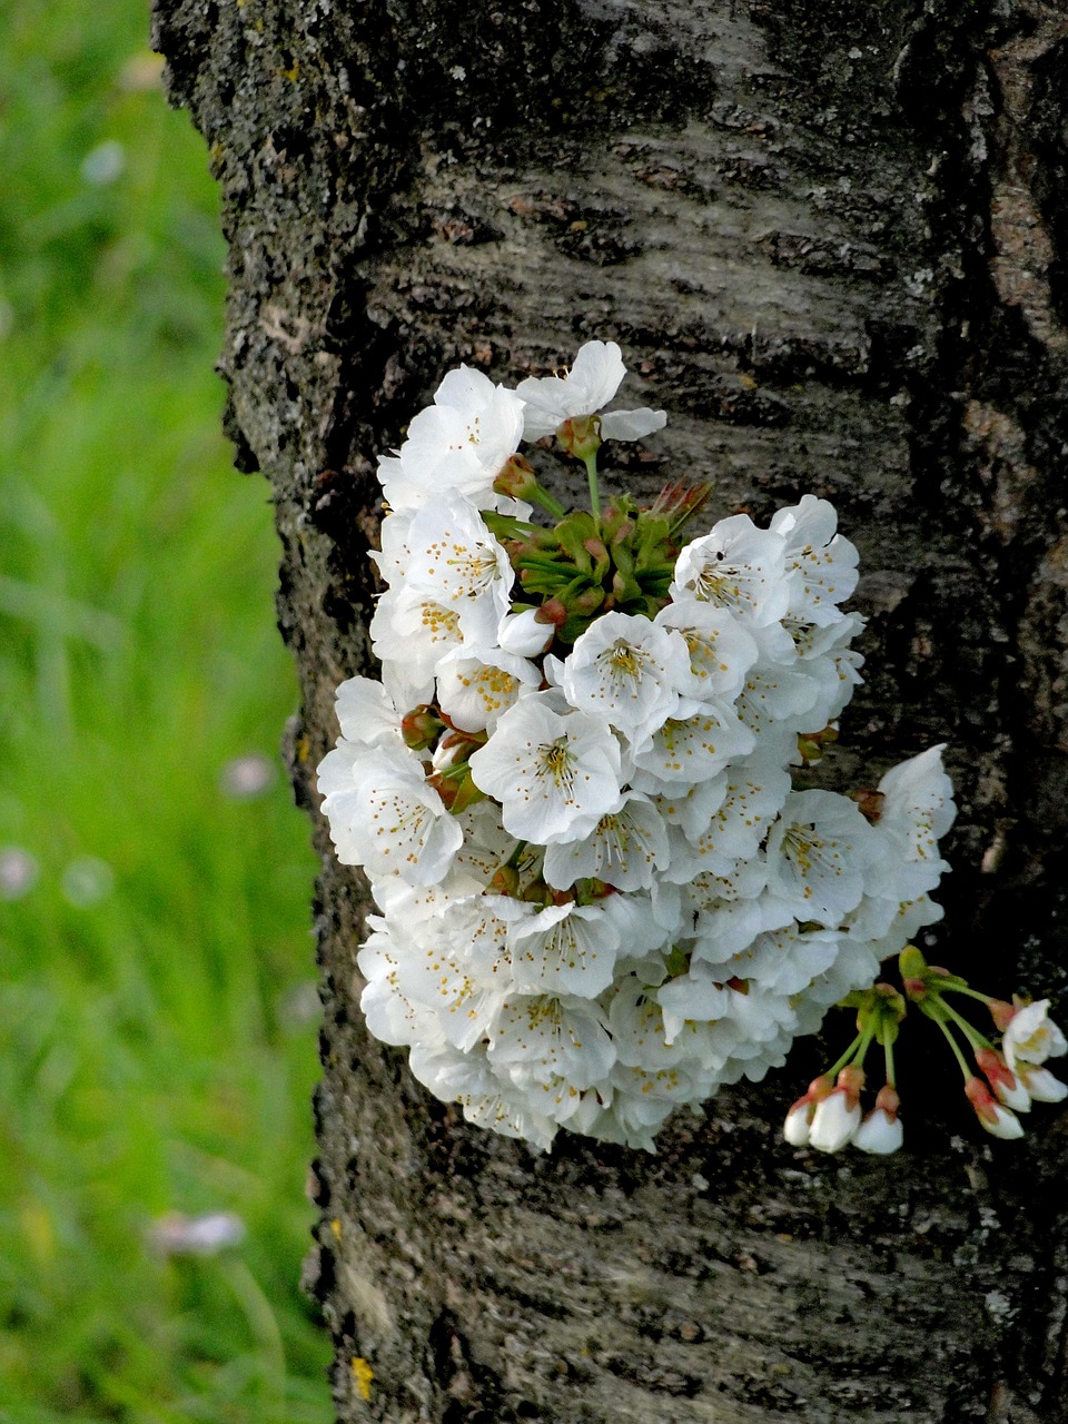
{"type": "MultiPolygon", "coordinates": [[[[565,376],[531,376],[521,380],[515,394],[525,400],[524,440],[554,434],[565,420],[592,416],[615,396],[627,375],[622,352],[615,342],[587,342],[565,376]]],[[[668,417],[662,410],[611,410],[601,416],[605,440],[641,440],[662,430],[668,417]]]]}

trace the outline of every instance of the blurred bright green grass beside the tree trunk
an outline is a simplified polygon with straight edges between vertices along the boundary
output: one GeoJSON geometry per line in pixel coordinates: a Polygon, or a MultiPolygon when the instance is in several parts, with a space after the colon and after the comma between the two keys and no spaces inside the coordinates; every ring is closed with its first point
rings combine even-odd
{"type": "Polygon", "coordinates": [[[318,1424],[313,866],[281,775],[224,787],[296,692],[219,436],[216,194],[147,30],[0,17],[0,1418],[318,1424]],[[169,1210],[246,1240],[161,1256],[169,1210]]]}

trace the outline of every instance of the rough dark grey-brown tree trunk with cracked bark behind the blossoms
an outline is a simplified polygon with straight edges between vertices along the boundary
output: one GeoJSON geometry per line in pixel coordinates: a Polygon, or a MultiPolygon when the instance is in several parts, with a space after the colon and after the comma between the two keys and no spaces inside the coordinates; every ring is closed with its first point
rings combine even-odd
{"type": "MultiPolygon", "coordinates": [[[[628,484],[836,503],[870,627],[833,775],[948,743],[934,958],[1064,1017],[1064,6],[157,0],[155,41],[222,185],[228,427],[278,511],[313,819],[372,668],[376,454],[460,360],[514,382],[611,337],[669,413],[628,484]]],[[[535,1158],[365,1032],[366,891],[315,826],[343,1421],[1068,1420],[1068,1115],[994,1151],[918,1045],[907,1152],[796,1152],[807,1042],[656,1156],[535,1158]]]]}

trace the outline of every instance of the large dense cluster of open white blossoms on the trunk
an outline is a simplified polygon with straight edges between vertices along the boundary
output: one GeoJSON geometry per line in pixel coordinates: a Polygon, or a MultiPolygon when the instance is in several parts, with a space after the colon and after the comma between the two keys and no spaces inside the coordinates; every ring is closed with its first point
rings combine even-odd
{"type": "Polygon", "coordinates": [[[538,1148],[562,1125],[652,1149],[676,1106],[783,1064],[940,917],[954,815],[938,748],[859,799],[795,786],[860,682],[857,554],[826,500],[682,548],[625,500],[531,521],[523,440],[590,467],[664,424],[598,414],[624,372],[591,342],[515,390],[446,376],[380,464],[382,682],[339,688],[319,768],[380,910],[370,1031],[538,1148]]]}

